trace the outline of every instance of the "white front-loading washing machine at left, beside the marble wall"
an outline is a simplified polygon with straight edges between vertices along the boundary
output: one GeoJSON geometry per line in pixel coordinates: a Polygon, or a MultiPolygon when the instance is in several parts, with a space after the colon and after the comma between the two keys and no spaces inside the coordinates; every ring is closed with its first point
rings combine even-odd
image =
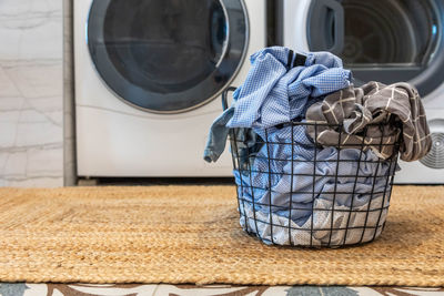
{"type": "Polygon", "coordinates": [[[75,0],[77,167],[84,177],[230,176],[203,161],[221,92],[265,47],[265,0],[75,0]]]}

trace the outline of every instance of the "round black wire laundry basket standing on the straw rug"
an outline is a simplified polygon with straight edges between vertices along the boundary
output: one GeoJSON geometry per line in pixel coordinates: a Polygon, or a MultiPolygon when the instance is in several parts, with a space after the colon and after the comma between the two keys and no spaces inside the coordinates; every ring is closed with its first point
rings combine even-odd
{"type": "MultiPolygon", "coordinates": [[[[222,106],[228,109],[228,93],[222,106]]],[[[238,188],[242,228],[265,244],[301,247],[340,247],[367,243],[384,228],[397,167],[401,136],[382,160],[365,142],[341,144],[342,124],[329,125],[340,133],[337,145],[322,147],[322,123],[289,122],[264,129],[231,129],[230,149],[238,188]],[[306,130],[314,132],[304,137],[306,130]],[[303,139],[301,141],[301,137],[303,139]],[[310,140],[310,141],[309,141],[310,140]],[[302,156],[301,156],[302,155],[302,156]],[[373,156],[372,156],[373,155],[373,156]]],[[[346,136],[345,132],[344,135],[346,136]]]]}

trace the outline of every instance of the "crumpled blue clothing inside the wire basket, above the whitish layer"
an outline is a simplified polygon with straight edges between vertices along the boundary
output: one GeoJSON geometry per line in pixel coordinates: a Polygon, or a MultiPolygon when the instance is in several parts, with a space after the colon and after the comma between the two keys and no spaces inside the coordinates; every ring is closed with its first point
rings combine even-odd
{"type": "Polygon", "coordinates": [[[251,204],[254,201],[255,211],[291,215],[302,227],[316,200],[362,206],[391,190],[394,160],[381,161],[372,151],[315,147],[304,125],[268,131],[269,144],[258,152],[251,170],[233,171],[239,198],[251,204]],[[294,208],[291,213],[290,207],[294,208]]]}

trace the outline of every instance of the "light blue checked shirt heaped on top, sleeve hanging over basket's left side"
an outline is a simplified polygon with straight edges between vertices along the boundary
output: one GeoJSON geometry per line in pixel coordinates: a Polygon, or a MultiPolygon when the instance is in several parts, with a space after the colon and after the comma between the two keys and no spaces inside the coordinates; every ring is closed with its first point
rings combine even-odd
{"type": "Polygon", "coordinates": [[[273,47],[252,54],[250,61],[252,68],[233,93],[231,108],[211,126],[204,150],[206,162],[215,162],[222,154],[230,127],[254,127],[258,132],[301,119],[307,102],[315,102],[312,98],[350,85],[351,72],[329,52],[293,54],[287,48],[273,47]]]}

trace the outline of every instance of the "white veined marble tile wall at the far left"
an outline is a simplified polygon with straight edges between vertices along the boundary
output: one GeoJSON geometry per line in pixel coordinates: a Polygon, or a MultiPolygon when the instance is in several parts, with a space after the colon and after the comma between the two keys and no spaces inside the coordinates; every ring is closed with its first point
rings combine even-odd
{"type": "Polygon", "coordinates": [[[0,1],[0,186],[63,185],[62,1],[0,1]]]}

